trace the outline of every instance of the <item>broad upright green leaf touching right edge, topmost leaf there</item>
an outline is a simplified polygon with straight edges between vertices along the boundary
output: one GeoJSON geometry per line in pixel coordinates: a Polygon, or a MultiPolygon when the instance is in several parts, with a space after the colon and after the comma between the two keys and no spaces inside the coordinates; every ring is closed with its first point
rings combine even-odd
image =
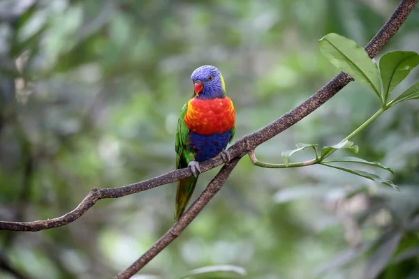
{"type": "Polygon", "coordinates": [[[384,100],[388,99],[390,92],[397,84],[419,64],[419,54],[416,52],[388,52],[380,59],[380,73],[383,80],[384,100]]]}

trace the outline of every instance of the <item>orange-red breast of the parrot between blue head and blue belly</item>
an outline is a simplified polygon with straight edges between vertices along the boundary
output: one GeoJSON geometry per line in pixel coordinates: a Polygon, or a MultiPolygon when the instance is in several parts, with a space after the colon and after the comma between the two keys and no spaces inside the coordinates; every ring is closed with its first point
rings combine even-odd
{"type": "Polygon", "coordinates": [[[227,132],[235,123],[233,102],[228,97],[207,100],[192,98],[188,102],[184,121],[189,130],[200,135],[227,132]]]}

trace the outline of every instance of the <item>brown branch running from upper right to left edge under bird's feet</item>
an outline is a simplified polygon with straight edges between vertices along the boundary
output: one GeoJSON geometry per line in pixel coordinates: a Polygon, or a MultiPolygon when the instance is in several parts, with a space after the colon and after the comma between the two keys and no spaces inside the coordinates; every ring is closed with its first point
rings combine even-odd
{"type": "MultiPolygon", "coordinates": [[[[395,35],[395,33],[402,26],[406,18],[408,17],[411,10],[414,8],[418,0],[402,0],[397,6],[395,12],[392,14],[390,19],[385,22],[384,26],[376,33],[376,36],[367,44],[365,50],[370,57],[374,57],[383,46],[388,43],[388,40],[395,35]]],[[[301,105],[298,105],[290,112],[284,114],[279,119],[273,121],[269,125],[257,130],[254,133],[245,135],[240,138],[228,149],[231,158],[242,157],[253,151],[256,146],[270,140],[275,135],[278,135],[282,131],[290,128],[295,123],[303,119],[305,116],[314,112],[318,107],[323,105],[327,100],[335,96],[335,94],[346,84],[353,81],[353,78],[346,73],[339,73],[330,82],[325,84],[319,89],[313,96],[304,101],[301,105]]],[[[209,169],[217,167],[223,164],[221,156],[216,156],[210,160],[202,163],[201,169],[206,172],[209,169]]],[[[155,188],[164,184],[172,183],[180,179],[184,179],[191,176],[191,170],[177,169],[161,176],[156,176],[152,179],[140,181],[127,186],[121,186],[117,188],[93,188],[89,195],[83,199],[83,201],[71,212],[66,213],[64,216],[59,218],[40,220],[34,222],[8,222],[0,221],[0,230],[10,231],[29,231],[37,232],[43,229],[51,229],[54,227],[61,227],[72,223],[82,216],[87,210],[94,206],[99,199],[108,199],[123,197],[125,195],[131,195],[133,193],[139,193],[144,190],[155,188]]],[[[186,211],[189,212],[189,211],[186,211]]],[[[186,214],[186,213],[185,213],[186,214]]],[[[194,217],[193,217],[194,218],[194,217]]]]}

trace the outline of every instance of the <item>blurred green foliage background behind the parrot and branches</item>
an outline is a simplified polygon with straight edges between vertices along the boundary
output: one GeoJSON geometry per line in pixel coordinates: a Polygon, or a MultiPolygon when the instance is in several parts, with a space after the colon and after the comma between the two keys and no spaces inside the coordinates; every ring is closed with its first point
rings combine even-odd
{"type": "MultiPolygon", "coordinates": [[[[236,139],[265,126],[337,73],[318,39],[335,32],[365,45],[398,2],[0,1],[0,219],[55,218],[93,187],[174,169],[177,117],[203,64],[226,79],[236,139]]],[[[378,57],[390,50],[419,52],[418,7],[378,57]]],[[[418,79],[413,70],[395,94],[418,79]]],[[[281,163],[298,142],[336,144],[378,108],[351,83],[256,156],[281,163]]],[[[396,174],[356,167],[400,193],[335,169],[262,169],[245,157],[136,278],[219,264],[245,269],[242,278],[419,278],[418,109],[397,105],[353,138],[361,158],[396,174]]],[[[216,171],[200,176],[194,197],[216,171]]],[[[65,227],[0,232],[0,278],[112,278],[170,228],[174,199],[172,183],[101,200],[65,227]]]]}

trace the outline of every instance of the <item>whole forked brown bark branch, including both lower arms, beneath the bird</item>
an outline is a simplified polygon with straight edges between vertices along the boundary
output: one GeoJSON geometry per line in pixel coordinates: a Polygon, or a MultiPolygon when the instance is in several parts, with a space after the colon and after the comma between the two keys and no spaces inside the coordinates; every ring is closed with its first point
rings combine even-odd
{"type": "MultiPolygon", "coordinates": [[[[374,38],[372,38],[372,40],[365,47],[369,57],[374,57],[383,48],[383,46],[388,43],[390,38],[395,35],[417,2],[418,0],[400,1],[399,6],[397,6],[390,19],[385,22],[383,27],[378,31],[378,33],[376,33],[376,36],[374,36],[374,38]]],[[[311,114],[311,112],[314,112],[314,110],[335,96],[338,91],[344,88],[344,86],[351,81],[353,81],[351,76],[346,73],[339,73],[301,105],[298,105],[290,112],[287,112],[279,119],[273,121],[260,130],[257,130],[249,135],[245,135],[237,140],[237,142],[235,142],[235,144],[228,149],[231,158],[234,158],[232,162],[229,165],[225,165],[220,170],[219,174],[217,174],[208,184],[207,188],[205,188],[200,197],[196,199],[179,221],[175,223],[175,225],[173,225],[173,227],[164,236],[162,236],[161,239],[154,244],[154,246],[152,246],[152,248],[147,250],[142,257],[128,267],[126,271],[119,273],[117,278],[129,278],[145,266],[145,264],[147,264],[151,259],[153,259],[170,242],[176,239],[176,237],[186,228],[187,225],[189,225],[189,223],[191,223],[203,207],[210,201],[215,193],[223,186],[223,183],[228,178],[228,175],[233,170],[235,165],[237,165],[238,160],[240,160],[242,156],[253,151],[263,142],[270,140],[275,135],[278,135],[287,128],[290,128],[305,116],[311,114]]],[[[216,156],[202,163],[201,169],[203,172],[206,172],[207,170],[221,164],[223,164],[223,159],[221,156],[216,156]]],[[[184,179],[185,177],[191,175],[192,173],[189,168],[177,169],[172,172],[168,172],[167,174],[156,176],[152,179],[147,179],[127,186],[117,188],[93,188],[91,189],[89,195],[87,195],[87,197],[85,197],[73,211],[66,213],[64,216],[34,222],[0,221],[0,230],[37,232],[43,229],[61,227],[80,218],[80,216],[89,210],[91,206],[94,206],[99,199],[117,198],[139,193],[144,190],[184,179]]]]}

